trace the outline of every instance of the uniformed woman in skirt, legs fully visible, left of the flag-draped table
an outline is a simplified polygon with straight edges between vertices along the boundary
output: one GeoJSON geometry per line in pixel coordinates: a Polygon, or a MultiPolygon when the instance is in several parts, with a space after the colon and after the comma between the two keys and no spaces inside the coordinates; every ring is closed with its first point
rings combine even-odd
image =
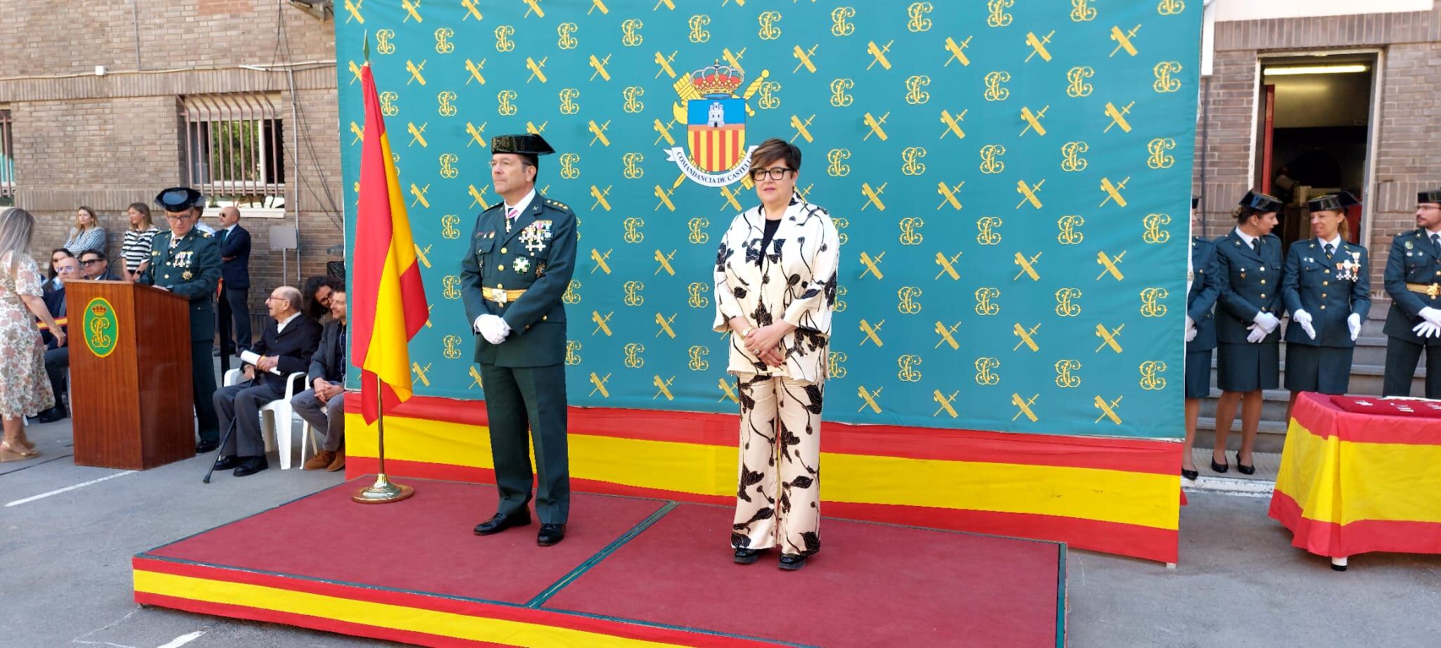
{"type": "Polygon", "coordinates": [[[1210,469],[1226,472],[1226,435],[1241,400],[1236,469],[1255,472],[1251,446],[1261,425],[1261,390],[1281,383],[1281,239],[1271,233],[1281,202],[1246,192],[1232,215],[1236,229],[1216,239],[1221,308],[1216,310],[1216,446],[1210,469]],[[1219,459],[1219,461],[1218,461],[1219,459]]]}

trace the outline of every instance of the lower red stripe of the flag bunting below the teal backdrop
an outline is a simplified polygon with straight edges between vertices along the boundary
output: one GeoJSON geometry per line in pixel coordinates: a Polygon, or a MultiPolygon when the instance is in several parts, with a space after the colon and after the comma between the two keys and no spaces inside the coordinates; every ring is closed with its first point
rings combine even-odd
{"type": "MultiPolygon", "coordinates": [[[[375,474],[378,461],[369,456],[346,459],[346,480],[375,474]]],[[[386,459],[391,477],[418,477],[425,480],[450,480],[494,484],[496,474],[488,468],[471,468],[424,461],[386,459]]],[[[608,481],[571,480],[575,491],[604,492],[610,495],[653,497],[659,500],[690,501],[700,504],[735,504],[733,497],[700,495],[695,492],[640,488],[608,481]]],[[[1023,537],[1063,541],[1075,549],[1134,556],[1163,563],[1179,559],[1174,528],[1156,528],[1138,524],[1123,524],[1101,520],[1085,520],[1063,516],[1040,516],[1029,513],[974,511],[964,508],[909,507],[904,504],[855,504],[823,501],[821,514],[850,520],[906,524],[924,528],[953,531],[989,533],[993,536],[1023,537]]]]}

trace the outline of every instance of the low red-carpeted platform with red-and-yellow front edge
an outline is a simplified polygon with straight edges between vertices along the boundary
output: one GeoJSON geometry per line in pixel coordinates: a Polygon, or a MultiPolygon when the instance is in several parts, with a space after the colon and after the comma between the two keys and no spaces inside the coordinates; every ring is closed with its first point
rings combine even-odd
{"type": "Polygon", "coordinates": [[[731,510],[575,494],[563,543],[477,537],[488,485],[330,488],[134,557],[135,600],[424,645],[1063,644],[1065,546],[826,518],[800,572],[731,562],[731,510]]]}

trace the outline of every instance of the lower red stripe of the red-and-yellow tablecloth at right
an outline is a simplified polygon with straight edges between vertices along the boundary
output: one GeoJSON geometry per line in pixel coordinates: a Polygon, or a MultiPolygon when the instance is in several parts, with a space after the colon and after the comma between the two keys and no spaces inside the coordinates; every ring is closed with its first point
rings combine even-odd
{"type": "Polygon", "coordinates": [[[1357,520],[1349,524],[1311,520],[1281,491],[1271,494],[1270,516],[1294,534],[1291,546],[1317,556],[1347,557],[1368,552],[1441,553],[1441,523],[1357,520]]]}

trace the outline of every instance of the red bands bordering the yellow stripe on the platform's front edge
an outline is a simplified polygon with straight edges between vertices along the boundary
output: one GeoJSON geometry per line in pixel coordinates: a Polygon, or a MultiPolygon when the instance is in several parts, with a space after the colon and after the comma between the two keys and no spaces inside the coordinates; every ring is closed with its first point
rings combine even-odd
{"type": "MultiPolygon", "coordinates": [[[[726,645],[726,647],[768,647],[769,642],[758,642],[731,636],[706,635],[683,629],[657,628],[643,624],[618,622],[598,619],[592,616],[553,612],[545,609],[517,608],[512,605],[484,603],[476,600],[460,600],[448,596],[427,596],[412,592],[386,590],[366,586],[350,586],[330,583],[300,576],[281,576],[269,573],[245,572],[236,569],[213,567],[208,564],[176,563],[170,560],[154,560],[143,556],[131,559],[131,567],[143,572],[169,573],[189,576],[205,580],[222,580],[231,583],[256,585],[264,588],[284,589],[290,592],[304,592],[320,596],[334,596],[350,600],[365,600],[370,603],[396,605],[403,608],[418,608],[435,612],[448,612],[464,616],[478,616],[486,619],[513,621],[519,624],[546,625],[553,628],[569,628],[585,632],[597,632],[630,639],[673,642],[684,645],[726,645]]],[[[241,606],[232,603],[212,603],[205,600],[183,599],[176,596],[135,592],[137,603],[160,605],[174,609],[212,613],[218,616],[233,616],[255,621],[272,621],[278,624],[316,628],[330,632],[340,632],[359,636],[375,636],[382,639],[402,641],[421,645],[503,645],[471,639],[457,639],[444,635],[431,635],[393,628],[352,624],[327,618],[298,615],[293,612],[271,611],[262,608],[241,606]]]]}

